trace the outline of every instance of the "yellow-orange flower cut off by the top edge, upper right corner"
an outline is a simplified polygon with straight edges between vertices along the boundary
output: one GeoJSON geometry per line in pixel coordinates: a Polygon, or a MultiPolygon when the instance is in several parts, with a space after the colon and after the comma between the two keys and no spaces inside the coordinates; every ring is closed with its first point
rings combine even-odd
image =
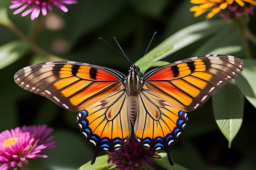
{"type": "Polygon", "coordinates": [[[206,11],[210,11],[206,16],[208,19],[212,18],[220,12],[220,10],[226,9],[228,5],[233,3],[238,4],[240,7],[244,7],[245,2],[256,5],[256,0],[190,0],[190,2],[192,4],[197,4],[189,9],[189,11],[195,12],[194,17],[198,17],[206,11]]]}

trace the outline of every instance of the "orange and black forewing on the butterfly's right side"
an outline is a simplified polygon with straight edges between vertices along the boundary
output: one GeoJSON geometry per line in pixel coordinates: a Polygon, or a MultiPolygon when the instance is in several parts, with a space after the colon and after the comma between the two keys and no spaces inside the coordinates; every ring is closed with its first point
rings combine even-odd
{"type": "Polygon", "coordinates": [[[237,57],[204,55],[155,68],[141,78],[174,108],[193,111],[242,71],[243,60],[237,57]]]}

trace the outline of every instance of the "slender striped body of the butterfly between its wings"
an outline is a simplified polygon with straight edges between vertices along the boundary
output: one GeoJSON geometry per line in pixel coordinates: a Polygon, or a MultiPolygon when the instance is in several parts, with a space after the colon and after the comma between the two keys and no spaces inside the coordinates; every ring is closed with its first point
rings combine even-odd
{"type": "Polygon", "coordinates": [[[138,94],[139,94],[139,67],[132,65],[129,68],[129,74],[127,76],[127,96],[128,107],[127,112],[130,115],[130,121],[134,124],[139,108],[138,94]]]}

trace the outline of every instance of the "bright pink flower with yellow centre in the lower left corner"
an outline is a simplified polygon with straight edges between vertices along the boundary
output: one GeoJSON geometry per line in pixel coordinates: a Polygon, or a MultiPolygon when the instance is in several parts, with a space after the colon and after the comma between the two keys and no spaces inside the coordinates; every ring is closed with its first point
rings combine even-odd
{"type": "Polygon", "coordinates": [[[0,170],[21,167],[28,158],[47,158],[38,155],[45,149],[54,148],[55,142],[49,142],[53,129],[46,125],[23,126],[0,133],[0,170]]]}

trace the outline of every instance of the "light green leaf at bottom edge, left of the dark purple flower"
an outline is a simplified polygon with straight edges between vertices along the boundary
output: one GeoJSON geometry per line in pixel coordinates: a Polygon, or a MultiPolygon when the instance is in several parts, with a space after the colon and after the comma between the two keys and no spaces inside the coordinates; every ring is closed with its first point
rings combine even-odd
{"type": "Polygon", "coordinates": [[[91,161],[83,164],[79,170],[107,170],[111,168],[112,166],[115,166],[114,163],[108,164],[107,162],[108,155],[103,155],[100,157],[97,157],[95,163],[91,165],[91,161]]]}

